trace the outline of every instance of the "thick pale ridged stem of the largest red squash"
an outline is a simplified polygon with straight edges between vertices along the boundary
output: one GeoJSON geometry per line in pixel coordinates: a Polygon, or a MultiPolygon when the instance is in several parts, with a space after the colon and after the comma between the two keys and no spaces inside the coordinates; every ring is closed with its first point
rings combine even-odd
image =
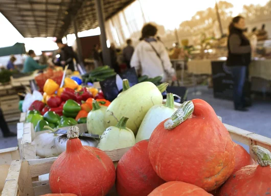
{"type": "Polygon", "coordinates": [[[164,128],[171,130],[183,121],[191,116],[194,111],[194,104],[192,101],[186,101],[172,114],[172,116],[167,119],[164,123],[164,128]]]}

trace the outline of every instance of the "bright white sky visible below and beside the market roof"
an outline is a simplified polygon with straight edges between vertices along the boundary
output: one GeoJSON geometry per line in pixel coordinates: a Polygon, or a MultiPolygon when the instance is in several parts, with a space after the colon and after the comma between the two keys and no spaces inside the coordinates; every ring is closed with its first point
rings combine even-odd
{"type": "MultiPolygon", "coordinates": [[[[139,0],[138,0],[139,1],[139,0]]],[[[219,1],[219,0],[217,0],[219,1]]],[[[269,0],[227,0],[232,3],[233,15],[242,12],[243,5],[260,4],[265,5],[269,0]]],[[[144,15],[148,21],[154,21],[162,24],[166,30],[174,30],[182,21],[190,20],[191,17],[199,10],[205,10],[214,7],[215,0],[140,0],[144,15]]],[[[11,46],[16,42],[25,42],[26,49],[30,48],[35,51],[55,50],[56,44],[52,38],[26,38],[12,26],[12,24],[0,13],[0,47],[11,46]],[[39,44],[36,44],[39,43],[39,44]],[[42,48],[41,48],[42,47],[42,48]]],[[[79,37],[87,36],[88,33],[99,35],[100,29],[89,30],[78,34],[79,37]]],[[[75,35],[70,36],[72,39],[68,44],[71,45],[75,40],[75,35]]]]}

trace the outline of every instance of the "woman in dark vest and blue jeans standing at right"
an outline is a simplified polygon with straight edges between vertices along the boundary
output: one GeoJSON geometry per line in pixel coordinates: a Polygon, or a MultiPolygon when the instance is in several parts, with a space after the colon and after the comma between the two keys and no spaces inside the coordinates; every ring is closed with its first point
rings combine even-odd
{"type": "Polygon", "coordinates": [[[245,37],[245,21],[241,16],[233,18],[229,27],[228,39],[228,60],[227,65],[230,67],[233,78],[233,97],[234,108],[239,111],[247,111],[244,101],[244,82],[246,69],[251,62],[251,46],[250,41],[245,37]]]}

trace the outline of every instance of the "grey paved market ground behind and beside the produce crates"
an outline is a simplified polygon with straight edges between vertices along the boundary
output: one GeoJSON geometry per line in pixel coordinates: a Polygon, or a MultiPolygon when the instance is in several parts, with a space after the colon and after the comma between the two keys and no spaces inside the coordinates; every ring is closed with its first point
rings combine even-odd
{"type": "MultiPolygon", "coordinates": [[[[197,90],[201,92],[201,95],[193,94],[193,89],[190,88],[188,99],[199,98],[207,101],[214,108],[216,114],[222,117],[224,123],[271,138],[271,101],[254,101],[249,112],[238,112],[233,110],[231,101],[214,99],[212,89],[199,86],[197,90]]],[[[16,132],[16,123],[10,124],[9,127],[11,131],[16,132]]],[[[16,145],[16,137],[3,138],[0,135],[0,149],[16,145]]]]}

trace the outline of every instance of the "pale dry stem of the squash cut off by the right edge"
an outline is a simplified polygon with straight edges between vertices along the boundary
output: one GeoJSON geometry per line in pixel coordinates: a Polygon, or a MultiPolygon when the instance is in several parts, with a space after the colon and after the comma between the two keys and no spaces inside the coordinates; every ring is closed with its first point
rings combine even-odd
{"type": "Polygon", "coordinates": [[[262,166],[271,165],[271,153],[265,148],[262,148],[259,145],[252,146],[252,151],[256,157],[257,162],[262,166]]]}

